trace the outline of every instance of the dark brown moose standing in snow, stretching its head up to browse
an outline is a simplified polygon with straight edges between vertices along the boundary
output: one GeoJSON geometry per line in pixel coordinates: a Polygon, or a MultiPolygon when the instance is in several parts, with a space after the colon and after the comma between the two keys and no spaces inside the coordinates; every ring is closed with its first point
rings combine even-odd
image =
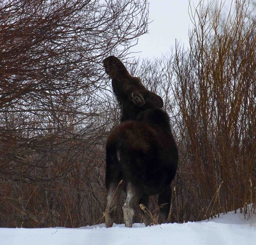
{"type": "Polygon", "coordinates": [[[115,56],[105,58],[103,64],[122,110],[121,123],[106,142],[105,226],[113,225],[123,189],[127,193],[122,207],[125,227],[132,227],[138,205],[145,226],[151,224],[147,212],[151,195],[158,195],[159,223],[167,223],[178,150],[170,119],[162,110],[163,100],[147,90],[139,78],[131,76],[115,56]]]}

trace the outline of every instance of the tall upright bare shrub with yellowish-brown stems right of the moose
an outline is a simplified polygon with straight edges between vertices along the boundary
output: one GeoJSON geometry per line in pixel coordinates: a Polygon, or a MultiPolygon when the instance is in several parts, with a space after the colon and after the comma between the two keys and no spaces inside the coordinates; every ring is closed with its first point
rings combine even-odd
{"type": "MultiPolygon", "coordinates": [[[[213,217],[255,200],[250,181],[254,189],[256,17],[249,7],[236,2],[221,18],[220,5],[199,6],[192,16],[197,24],[190,49],[176,49],[181,175],[190,197],[183,205],[192,214],[181,211],[185,220],[213,217]]],[[[177,196],[183,192],[180,188],[177,196]]]]}

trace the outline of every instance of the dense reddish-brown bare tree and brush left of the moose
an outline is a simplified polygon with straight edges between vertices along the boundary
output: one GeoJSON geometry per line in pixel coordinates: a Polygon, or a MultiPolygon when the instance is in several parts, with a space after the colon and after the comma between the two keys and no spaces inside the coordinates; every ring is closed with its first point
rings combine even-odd
{"type": "Polygon", "coordinates": [[[147,31],[147,7],[146,0],[1,1],[1,226],[79,226],[102,213],[96,175],[109,115],[116,117],[102,59],[129,55],[147,31]]]}

